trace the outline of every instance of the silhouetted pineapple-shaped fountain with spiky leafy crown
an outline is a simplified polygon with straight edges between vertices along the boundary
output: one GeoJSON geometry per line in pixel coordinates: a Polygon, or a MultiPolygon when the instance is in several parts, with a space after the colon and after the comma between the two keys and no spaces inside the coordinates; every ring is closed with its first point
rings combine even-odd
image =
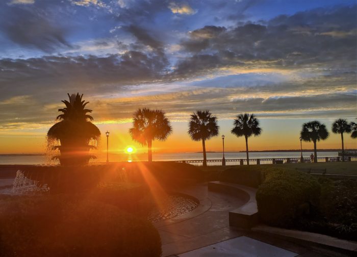
{"type": "Polygon", "coordinates": [[[58,109],[62,112],[56,118],[59,122],[47,132],[47,142],[48,145],[52,141],[60,142],[60,145],[53,146],[52,149],[60,150],[60,155],[53,159],[59,159],[62,166],[85,165],[89,159],[95,158],[88,152],[96,148],[91,143],[99,139],[100,131],[90,122],[93,117],[87,113],[92,110],[85,109],[88,102],[82,100],[83,94],[68,94],[68,97],[69,101],[62,100],[66,107],[58,109]]]}

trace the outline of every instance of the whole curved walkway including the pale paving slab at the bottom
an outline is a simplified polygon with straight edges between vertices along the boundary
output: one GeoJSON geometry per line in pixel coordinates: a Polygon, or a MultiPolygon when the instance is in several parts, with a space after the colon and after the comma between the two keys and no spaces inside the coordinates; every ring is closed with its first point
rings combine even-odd
{"type": "Polygon", "coordinates": [[[274,256],[346,256],[324,247],[230,227],[228,213],[243,205],[245,200],[208,191],[207,184],[179,192],[194,196],[200,205],[190,213],[154,223],[161,236],[162,256],[267,256],[269,253],[264,249],[280,252],[277,255],[271,252],[274,256]]]}

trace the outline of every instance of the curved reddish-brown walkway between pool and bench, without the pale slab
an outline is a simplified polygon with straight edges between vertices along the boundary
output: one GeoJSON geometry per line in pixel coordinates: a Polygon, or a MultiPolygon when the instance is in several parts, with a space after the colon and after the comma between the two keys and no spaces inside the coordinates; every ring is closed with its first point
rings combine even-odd
{"type": "Polygon", "coordinates": [[[154,223],[161,236],[162,256],[180,254],[243,235],[230,228],[228,212],[240,207],[244,201],[208,191],[207,184],[186,188],[180,193],[196,197],[200,205],[193,212],[154,223]]]}

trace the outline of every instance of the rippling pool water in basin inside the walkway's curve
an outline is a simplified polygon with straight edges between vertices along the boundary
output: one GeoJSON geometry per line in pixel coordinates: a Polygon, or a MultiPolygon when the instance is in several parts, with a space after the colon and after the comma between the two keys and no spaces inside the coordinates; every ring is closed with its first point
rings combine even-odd
{"type": "Polygon", "coordinates": [[[150,212],[148,220],[151,222],[171,219],[173,217],[191,212],[198,206],[198,203],[184,196],[168,195],[162,199],[160,205],[160,208],[157,207],[150,212]]]}

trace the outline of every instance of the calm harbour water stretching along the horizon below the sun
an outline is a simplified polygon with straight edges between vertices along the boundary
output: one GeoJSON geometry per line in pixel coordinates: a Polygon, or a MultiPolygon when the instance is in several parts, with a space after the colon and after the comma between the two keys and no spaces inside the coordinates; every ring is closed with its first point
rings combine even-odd
{"type": "MultiPolygon", "coordinates": [[[[309,158],[311,151],[302,153],[304,158],[309,158]]],[[[318,157],[337,157],[338,151],[318,151],[318,157]]],[[[222,152],[208,152],[207,159],[222,159],[222,152]]],[[[245,159],[245,152],[225,152],[225,159],[245,159]]],[[[269,158],[300,158],[300,151],[294,152],[249,152],[250,159],[269,159],[269,158]]],[[[179,153],[153,153],[153,161],[182,161],[182,160],[202,160],[201,152],[179,152],[179,153]]],[[[106,154],[98,155],[98,158],[90,162],[106,162],[106,154]]],[[[147,161],[147,153],[136,153],[129,155],[127,153],[110,153],[110,162],[126,161],[147,161]]],[[[57,164],[58,161],[50,161],[46,155],[0,155],[1,164],[27,164],[27,165],[48,165],[57,164]]]]}

